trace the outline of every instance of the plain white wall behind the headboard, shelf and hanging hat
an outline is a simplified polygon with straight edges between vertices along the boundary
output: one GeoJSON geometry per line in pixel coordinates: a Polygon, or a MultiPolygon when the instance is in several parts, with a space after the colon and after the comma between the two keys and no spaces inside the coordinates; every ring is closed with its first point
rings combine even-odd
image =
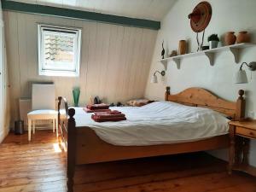
{"type": "MultiPolygon", "coordinates": [[[[246,90],[247,113],[256,113],[256,73],[247,71],[248,84],[234,84],[233,75],[239,68],[234,58],[229,52],[219,53],[215,60],[215,65],[209,65],[207,58],[198,56],[186,58],[181,61],[181,69],[177,70],[176,64],[172,61],[168,63],[166,78],[159,84],[150,84],[150,78],[154,70],[162,70],[160,60],[161,42],[165,40],[165,48],[170,51],[177,49],[178,41],[186,39],[189,41],[189,52],[195,52],[197,44],[195,33],[192,32],[188,15],[200,0],[178,0],[174,4],[165,19],[161,22],[161,30],[158,33],[151,69],[148,76],[148,84],[145,96],[151,99],[164,99],[166,85],[171,86],[171,92],[177,93],[189,87],[202,87],[211,90],[230,101],[236,101],[237,91],[246,90]],[[251,78],[252,77],[252,78],[251,78]]],[[[256,21],[255,21],[255,0],[209,0],[212,5],[212,20],[207,26],[205,44],[207,36],[218,33],[223,38],[224,32],[239,32],[246,30],[252,34],[253,42],[256,42],[256,21]]],[[[241,61],[256,61],[256,47],[244,49],[241,53],[241,61]]],[[[241,63],[241,62],[240,62],[241,63]]],[[[219,157],[224,158],[226,151],[214,152],[219,157]]],[[[252,143],[250,161],[256,166],[256,143],[252,143]]]]}

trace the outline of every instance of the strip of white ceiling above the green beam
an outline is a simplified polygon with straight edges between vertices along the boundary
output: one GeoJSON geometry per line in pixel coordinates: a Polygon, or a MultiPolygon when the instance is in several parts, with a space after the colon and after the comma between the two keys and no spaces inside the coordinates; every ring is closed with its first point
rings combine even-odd
{"type": "Polygon", "coordinates": [[[176,0],[13,0],[108,15],[162,20],[176,0]]]}

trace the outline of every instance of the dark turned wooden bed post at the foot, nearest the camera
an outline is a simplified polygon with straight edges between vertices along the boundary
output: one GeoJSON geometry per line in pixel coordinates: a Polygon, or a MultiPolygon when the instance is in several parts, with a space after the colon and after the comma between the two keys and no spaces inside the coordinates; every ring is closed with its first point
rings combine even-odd
{"type": "Polygon", "coordinates": [[[74,108],[68,109],[67,123],[67,191],[73,192],[73,177],[76,165],[76,122],[74,108]]]}

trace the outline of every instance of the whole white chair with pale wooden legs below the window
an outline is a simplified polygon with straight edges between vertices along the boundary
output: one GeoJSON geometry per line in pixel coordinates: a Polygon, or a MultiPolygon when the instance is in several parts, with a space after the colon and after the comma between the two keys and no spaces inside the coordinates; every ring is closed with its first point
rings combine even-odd
{"type": "Polygon", "coordinates": [[[31,141],[31,129],[35,134],[37,120],[51,119],[53,132],[58,137],[58,112],[55,110],[55,84],[32,84],[32,112],[27,113],[28,141],[31,141]]]}

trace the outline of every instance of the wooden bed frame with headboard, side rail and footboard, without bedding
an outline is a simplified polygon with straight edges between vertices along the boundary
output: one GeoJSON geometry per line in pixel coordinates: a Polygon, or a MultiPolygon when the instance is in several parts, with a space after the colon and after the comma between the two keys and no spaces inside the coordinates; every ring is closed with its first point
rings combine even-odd
{"type": "MultiPolygon", "coordinates": [[[[189,88],[177,95],[170,94],[166,87],[166,101],[178,102],[184,105],[212,108],[215,111],[230,116],[230,119],[242,119],[245,113],[244,91],[239,90],[236,102],[225,101],[211,92],[201,88],[189,88]]],[[[229,136],[212,137],[189,143],[162,144],[152,146],[115,146],[102,141],[90,127],[76,127],[74,108],[67,106],[67,100],[58,98],[58,122],[61,142],[67,147],[67,190],[73,192],[73,177],[75,166],[112,160],[128,160],[166,154],[181,154],[188,152],[227,148],[229,136]],[[61,115],[61,105],[64,103],[66,115],[61,115]]]]}

